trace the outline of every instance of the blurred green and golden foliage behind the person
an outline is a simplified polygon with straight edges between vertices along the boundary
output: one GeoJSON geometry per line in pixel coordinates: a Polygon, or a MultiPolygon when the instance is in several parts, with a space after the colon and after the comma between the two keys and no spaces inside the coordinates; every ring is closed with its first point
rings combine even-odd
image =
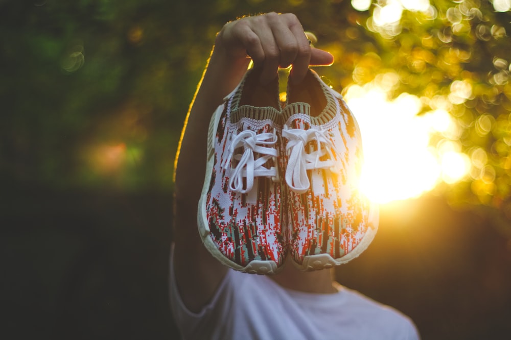
{"type": "Polygon", "coordinates": [[[334,87],[393,72],[392,98],[447,110],[457,128],[434,142],[471,161],[469,176],[443,184],[447,197],[511,218],[511,15],[493,1],[0,1],[0,174],[6,185],[171,189],[216,32],[245,14],[293,12],[336,57],[324,70],[334,87]],[[389,8],[399,15],[385,19],[389,8]]]}

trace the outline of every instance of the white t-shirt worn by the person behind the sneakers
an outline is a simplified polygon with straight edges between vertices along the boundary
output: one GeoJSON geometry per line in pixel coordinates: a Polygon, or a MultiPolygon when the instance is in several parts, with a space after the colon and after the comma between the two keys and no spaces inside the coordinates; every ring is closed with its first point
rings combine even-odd
{"type": "Polygon", "coordinates": [[[409,318],[355,290],[339,286],[334,294],[303,293],[234,270],[211,302],[194,313],[182,303],[172,262],[171,257],[171,308],[184,339],[419,339],[409,318]]]}

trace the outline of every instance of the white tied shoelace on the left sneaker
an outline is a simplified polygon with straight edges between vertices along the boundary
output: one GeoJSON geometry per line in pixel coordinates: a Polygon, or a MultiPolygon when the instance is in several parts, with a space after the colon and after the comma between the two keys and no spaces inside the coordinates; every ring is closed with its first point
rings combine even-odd
{"type": "Polygon", "coordinates": [[[233,137],[230,144],[229,155],[225,158],[224,168],[234,161],[238,164],[231,169],[229,187],[233,191],[247,193],[252,189],[254,177],[265,176],[276,178],[276,166],[266,168],[263,165],[272,157],[277,156],[277,150],[268,145],[274,145],[277,141],[275,132],[255,133],[251,130],[244,130],[233,137]],[[235,150],[243,148],[243,153],[235,154],[235,150]],[[254,153],[260,157],[254,159],[254,153]],[[246,178],[246,187],[243,188],[243,178],[246,178]]]}

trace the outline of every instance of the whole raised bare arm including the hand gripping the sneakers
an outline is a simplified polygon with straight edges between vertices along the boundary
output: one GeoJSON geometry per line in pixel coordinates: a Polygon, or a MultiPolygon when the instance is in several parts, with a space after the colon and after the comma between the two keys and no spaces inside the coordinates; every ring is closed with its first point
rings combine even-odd
{"type": "Polygon", "coordinates": [[[293,14],[268,13],[227,23],[218,33],[211,57],[190,106],[175,168],[174,268],[184,304],[199,311],[227,272],[203,247],[197,230],[197,205],[205,174],[210,117],[241,81],[251,56],[269,83],[278,67],[292,65],[290,81],[300,82],[309,65],[329,65],[333,57],[311,48],[293,14]]]}

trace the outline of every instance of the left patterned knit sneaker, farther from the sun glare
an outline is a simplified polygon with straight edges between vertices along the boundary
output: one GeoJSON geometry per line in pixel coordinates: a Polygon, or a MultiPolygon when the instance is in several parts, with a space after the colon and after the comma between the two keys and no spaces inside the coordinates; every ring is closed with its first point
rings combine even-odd
{"type": "Polygon", "coordinates": [[[198,226],[210,253],[238,271],[271,274],[287,253],[281,230],[278,78],[259,84],[247,71],[213,114],[198,226]]]}

